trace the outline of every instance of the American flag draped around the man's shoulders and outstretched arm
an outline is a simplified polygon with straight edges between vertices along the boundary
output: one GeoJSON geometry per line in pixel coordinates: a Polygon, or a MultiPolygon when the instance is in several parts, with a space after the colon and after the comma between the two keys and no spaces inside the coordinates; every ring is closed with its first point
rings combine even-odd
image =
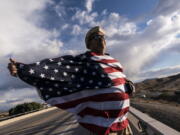
{"type": "Polygon", "coordinates": [[[109,55],[86,52],[18,64],[18,76],[47,103],[74,113],[98,135],[127,127],[129,95],[121,64],[109,55]]]}

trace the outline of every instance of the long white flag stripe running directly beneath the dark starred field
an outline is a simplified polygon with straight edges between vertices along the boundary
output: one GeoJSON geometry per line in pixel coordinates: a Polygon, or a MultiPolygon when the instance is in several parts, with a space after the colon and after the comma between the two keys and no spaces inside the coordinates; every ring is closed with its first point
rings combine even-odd
{"type": "Polygon", "coordinates": [[[80,92],[73,93],[71,95],[62,96],[62,97],[54,97],[48,99],[46,102],[51,105],[55,104],[61,104],[65,102],[70,102],[73,100],[89,97],[89,96],[95,96],[99,94],[105,94],[105,93],[121,93],[124,89],[123,84],[119,86],[119,88],[105,88],[105,89],[97,89],[97,90],[83,90],[80,92]],[[122,90],[121,90],[122,89],[122,90]]]}

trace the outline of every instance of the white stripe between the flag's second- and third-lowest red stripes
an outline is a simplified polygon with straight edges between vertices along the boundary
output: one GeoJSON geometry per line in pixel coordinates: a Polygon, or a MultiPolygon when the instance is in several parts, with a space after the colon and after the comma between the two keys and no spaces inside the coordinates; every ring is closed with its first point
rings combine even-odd
{"type": "Polygon", "coordinates": [[[122,101],[104,101],[104,102],[85,102],[77,105],[76,107],[69,108],[67,111],[78,114],[85,108],[93,108],[96,110],[118,110],[129,107],[129,99],[122,101]]]}

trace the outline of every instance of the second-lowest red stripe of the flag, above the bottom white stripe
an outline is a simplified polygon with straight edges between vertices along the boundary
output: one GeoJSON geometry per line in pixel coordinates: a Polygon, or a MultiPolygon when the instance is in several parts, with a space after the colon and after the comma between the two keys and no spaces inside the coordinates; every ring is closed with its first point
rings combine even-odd
{"type": "Polygon", "coordinates": [[[129,107],[119,110],[96,110],[88,107],[85,108],[83,111],[81,111],[78,115],[80,115],[81,117],[84,117],[85,115],[93,115],[104,118],[117,118],[125,115],[128,111],[129,111],[129,107]]]}

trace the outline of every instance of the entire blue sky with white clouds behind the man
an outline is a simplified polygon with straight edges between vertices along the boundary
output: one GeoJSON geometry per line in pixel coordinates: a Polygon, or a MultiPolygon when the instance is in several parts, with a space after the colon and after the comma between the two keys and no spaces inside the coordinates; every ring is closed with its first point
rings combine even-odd
{"type": "Polygon", "coordinates": [[[10,57],[28,64],[83,53],[94,26],[106,31],[107,52],[129,79],[180,73],[179,0],[0,0],[0,20],[0,110],[42,102],[10,76],[10,57]]]}

